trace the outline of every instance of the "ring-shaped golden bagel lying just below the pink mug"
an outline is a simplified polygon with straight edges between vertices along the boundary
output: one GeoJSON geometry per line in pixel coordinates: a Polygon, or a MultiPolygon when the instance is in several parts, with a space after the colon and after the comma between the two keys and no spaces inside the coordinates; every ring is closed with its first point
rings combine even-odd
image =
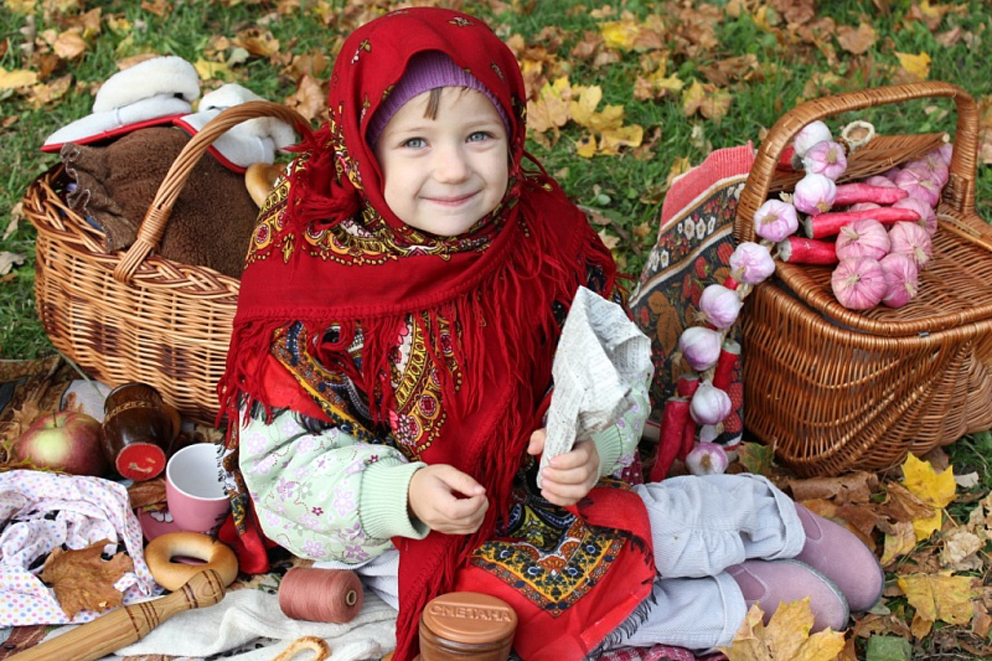
{"type": "Polygon", "coordinates": [[[145,563],[155,582],[166,590],[176,591],[194,574],[213,569],[227,587],[238,577],[238,558],[234,551],[209,535],[198,532],[170,532],[159,535],[145,547],[145,563]],[[173,562],[176,556],[203,560],[206,564],[173,562]]]}

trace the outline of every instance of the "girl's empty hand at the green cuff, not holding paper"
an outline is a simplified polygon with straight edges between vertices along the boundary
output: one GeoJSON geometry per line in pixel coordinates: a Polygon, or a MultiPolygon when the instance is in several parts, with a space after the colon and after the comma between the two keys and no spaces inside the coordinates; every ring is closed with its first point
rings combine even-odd
{"type": "Polygon", "coordinates": [[[448,464],[421,468],[410,478],[410,512],[431,530],[468,535],[479,529],[489,499],[475,479],[448,464]]]}

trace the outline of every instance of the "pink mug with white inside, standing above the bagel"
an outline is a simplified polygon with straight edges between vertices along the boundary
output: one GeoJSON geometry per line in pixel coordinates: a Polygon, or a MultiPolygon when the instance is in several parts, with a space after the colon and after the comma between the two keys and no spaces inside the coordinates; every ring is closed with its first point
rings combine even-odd
{"type": "Polygon", "coordinates": [[[223,447],[194,443],[176,452],[165,467],[165,498],[180,530],[210,532],[220,526],[231,503],[224,491],[223,447]]]}

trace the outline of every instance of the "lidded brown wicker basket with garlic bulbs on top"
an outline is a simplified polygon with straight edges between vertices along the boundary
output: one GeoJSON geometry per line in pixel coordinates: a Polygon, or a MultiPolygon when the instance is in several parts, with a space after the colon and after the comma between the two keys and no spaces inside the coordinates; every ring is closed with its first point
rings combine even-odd
{"type": "MultiPolygon", "coordinates": [[[[802,475],[883,469],[968,432],[992,428],[992,229],[975,215],[978,114],[944,83],[881,87],[797,106],[762,142],[737,210],[739,240],[776,181],[775,164],[813,120],[881,104],[950,97],[957,129],[950,180],[937,213],[932,261],[916,299],[855,312],[830,289],[832,269],[780,264],[743,317],[746,426],[802,475]]],[[[899,136],[855,152],[858,177],[933,146],[899,136]],[[901,156],[900,156],[901,154],[901,156]]]]}

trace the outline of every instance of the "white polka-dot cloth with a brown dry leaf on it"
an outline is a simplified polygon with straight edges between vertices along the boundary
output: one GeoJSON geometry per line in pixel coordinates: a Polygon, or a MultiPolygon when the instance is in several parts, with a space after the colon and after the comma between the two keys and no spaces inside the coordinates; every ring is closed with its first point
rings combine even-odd
{"type": "MultiPolygon", "coordinates": [[[[127,489],[116,482],[31,470],[0,473],[0,529],[0,626],[69,622],[52,589],[37,577],[41,567],[29,569],[63,544],[81,549],[101,539],[115,546],[123,541],[134,562],[134,571],[114,585],[124,603],[157,590],[127,489]]],[[[72,622],[99,615],[80,611],[72,622]]]]}

